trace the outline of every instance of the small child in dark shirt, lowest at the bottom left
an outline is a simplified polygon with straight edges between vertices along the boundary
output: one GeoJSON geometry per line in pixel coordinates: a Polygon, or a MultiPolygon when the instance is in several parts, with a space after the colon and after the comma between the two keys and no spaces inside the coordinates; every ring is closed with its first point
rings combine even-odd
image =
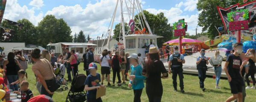
{"type": "Polygon", "coordinates": [[[20,84],[20,92],[14,91],[14,93],[21,95],[21,102],[27,102],[30,98],[33,97],[33,93],[29,90],[29,82],[24,80],[20,84]]]}

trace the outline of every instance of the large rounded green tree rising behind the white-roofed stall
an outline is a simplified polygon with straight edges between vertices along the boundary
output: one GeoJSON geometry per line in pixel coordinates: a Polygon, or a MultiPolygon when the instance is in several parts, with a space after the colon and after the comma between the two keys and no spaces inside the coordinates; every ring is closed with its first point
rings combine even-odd
{"type": "Polygon", "coordinates": [[[63,19],[57,19],[54,15],[46,15],[36,29],[40,38],[38,44],[43,47],[46,47],[49,42],[72,42],[70,27],[63,19]]]}

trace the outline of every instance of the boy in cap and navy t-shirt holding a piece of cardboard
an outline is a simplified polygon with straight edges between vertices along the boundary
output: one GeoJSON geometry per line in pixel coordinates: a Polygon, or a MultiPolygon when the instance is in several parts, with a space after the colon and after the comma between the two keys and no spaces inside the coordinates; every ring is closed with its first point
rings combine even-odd
{"type": "Polygon", "coordinates": [[[100,74],[96,73],[97,65],[94,62],[90,63],[88,70],[90,71],[90,74],[87,76],[84,82],[84,90],[87,91],[87,102],[102,102],[100,97],[96,99],[96,89],[104,87],[103,85],[99,84],[101,80],[100,74]]]}

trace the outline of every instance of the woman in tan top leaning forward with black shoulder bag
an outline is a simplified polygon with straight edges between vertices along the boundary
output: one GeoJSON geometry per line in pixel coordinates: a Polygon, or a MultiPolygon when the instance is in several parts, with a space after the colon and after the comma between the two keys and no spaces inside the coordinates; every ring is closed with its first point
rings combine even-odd
{"type": "Polygon", "coordinates": [[[35,48],[31,53],[32,60],[35,61],[35,64],[32,65],[32,71],[39,78],[42,84],[41,94],[52,97],[54,92],[50,91],[49,88],[54,84],[52,83],[54,82],[52,80],[54,80],[54,77],[56,76],[53,74],[54,69],[50,62],[47,59],[40,59],[40,52],[40,49],[35,48]]]}

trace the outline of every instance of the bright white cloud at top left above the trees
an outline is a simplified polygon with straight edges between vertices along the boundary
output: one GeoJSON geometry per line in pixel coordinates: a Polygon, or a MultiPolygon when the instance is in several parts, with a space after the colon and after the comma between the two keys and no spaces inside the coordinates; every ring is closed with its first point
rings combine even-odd
{"type": "Polygon", "coordinates": [[[17,3],[17,0],[9,0],[6,3],[6,9],[3,18],[12,21],[26,18],[37,26],[38,22],[41,21],[43,18],[43,13],[40,12],[38,15],[35,15],[34,8],[29,9],[27,6],[21,7],[17,3]]]}

